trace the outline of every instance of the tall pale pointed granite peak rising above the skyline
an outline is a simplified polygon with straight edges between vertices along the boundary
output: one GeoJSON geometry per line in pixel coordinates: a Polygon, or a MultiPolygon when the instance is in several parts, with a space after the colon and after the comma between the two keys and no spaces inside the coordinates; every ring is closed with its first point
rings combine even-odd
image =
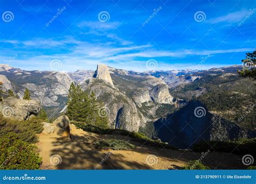
{"type": "Polygon", "coordinates": [[[104,64],[99,64],[97,66],[97,70],[93,74],[93,77],[95,77],[97,79],[102,79],[102,80],[110,83],[111,86],[114,86],[113,81],[110,76],[110,73],[109,73],[109,68],[107,68],[107,66],[104,64]]]}

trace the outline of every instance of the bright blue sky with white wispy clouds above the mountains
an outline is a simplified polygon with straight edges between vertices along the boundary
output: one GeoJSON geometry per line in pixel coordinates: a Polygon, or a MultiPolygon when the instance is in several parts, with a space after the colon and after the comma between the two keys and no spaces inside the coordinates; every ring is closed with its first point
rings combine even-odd
{"type": "Polygon", "coordinates": [[[0,63],[60,71],[95,70],[98,63],[137,71],[241,65],[256,48],[255,5],[1,0],[0,63]]]}

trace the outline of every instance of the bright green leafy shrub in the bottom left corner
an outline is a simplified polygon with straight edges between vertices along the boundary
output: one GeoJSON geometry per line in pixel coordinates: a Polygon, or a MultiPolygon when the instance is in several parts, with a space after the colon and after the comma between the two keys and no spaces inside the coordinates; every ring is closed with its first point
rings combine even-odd
{"type": "Polygon", "coordinates": [[[0,138],[0,169],[39,169],[37,147],[9,132],[0,138]]]}

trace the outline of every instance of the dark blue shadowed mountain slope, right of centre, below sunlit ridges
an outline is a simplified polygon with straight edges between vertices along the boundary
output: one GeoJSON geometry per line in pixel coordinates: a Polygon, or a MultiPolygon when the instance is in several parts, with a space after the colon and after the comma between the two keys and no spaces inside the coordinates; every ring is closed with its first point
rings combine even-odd
{"type": "Polygon", "coordinates": [[[255,130],[242,129],[226,119],[211,114],[199,101],[191,101],[174,114],[159,119],[154,123],[154,127],[162,141],[180,148],[189,148],[203,140],[223,141],[256,135],[255,130]]]}

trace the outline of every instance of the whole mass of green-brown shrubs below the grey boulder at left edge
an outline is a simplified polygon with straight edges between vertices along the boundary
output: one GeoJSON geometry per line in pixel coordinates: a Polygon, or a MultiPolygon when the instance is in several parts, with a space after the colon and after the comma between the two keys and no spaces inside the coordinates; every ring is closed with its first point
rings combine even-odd
{"type": "Polygon", "coordinates": [[[41,158],[33,143],[43,130],[42,119],[15,121],[0,115],[0,169],[39,169],[41,158]]]}

